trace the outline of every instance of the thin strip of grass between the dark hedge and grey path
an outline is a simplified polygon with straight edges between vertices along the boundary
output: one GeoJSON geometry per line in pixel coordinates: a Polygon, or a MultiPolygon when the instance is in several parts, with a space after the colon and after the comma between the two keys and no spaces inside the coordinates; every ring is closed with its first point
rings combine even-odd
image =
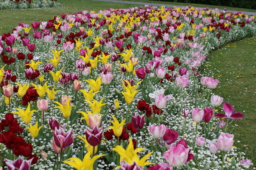
{"type": "Polygon", "coordinates": [[[246,8],[236,8],[236,7],[230,7],[230,6],[217,6],[217,5],[209,5],[209,4],[193,4],[193,3],[175,3],[175,2],[164,2],[164,1],[150,1],[150,0],[118,0],[118,1],[134,1],[134,2],[142,2],[142,3],[159,3],[159,4],[173,4],[173,5],[180,5],[180,6],[196,6],[196,7],[209,7],[209,8],[219,8],[224,9],[227,8],[227,10],[236,10],[236,11],[252,11],[256,12],[256,10],[252,9],[246,9],[246,8]]]}

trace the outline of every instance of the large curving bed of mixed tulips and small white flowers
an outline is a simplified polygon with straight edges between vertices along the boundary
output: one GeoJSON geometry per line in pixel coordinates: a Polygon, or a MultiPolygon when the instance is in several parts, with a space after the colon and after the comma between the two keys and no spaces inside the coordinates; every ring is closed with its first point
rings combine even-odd
{"type": "Polygon", "coordinates": [[[212,94],[218,80],[200,66],[211,50],[255,34],[255,22],[145,6],[20,23],[0,38],[1,165],[250,167],[230,134],[243,114],[212,94]]]}

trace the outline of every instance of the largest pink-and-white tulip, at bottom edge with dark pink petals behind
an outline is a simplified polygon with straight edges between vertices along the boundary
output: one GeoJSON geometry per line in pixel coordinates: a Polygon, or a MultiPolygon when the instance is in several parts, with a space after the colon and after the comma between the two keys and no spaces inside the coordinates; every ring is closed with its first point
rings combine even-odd
{"type": "Polygon", "coordinates": [[[168,148],[168,151],[163,153],[164,159],[167,162],[174,166],[180,167],[183,166],[186,162],[193,159],[193,155],[190,153],[189,146],[187,146],[184,139],[180,140],[176,145],[171,145],[168,148]]]}

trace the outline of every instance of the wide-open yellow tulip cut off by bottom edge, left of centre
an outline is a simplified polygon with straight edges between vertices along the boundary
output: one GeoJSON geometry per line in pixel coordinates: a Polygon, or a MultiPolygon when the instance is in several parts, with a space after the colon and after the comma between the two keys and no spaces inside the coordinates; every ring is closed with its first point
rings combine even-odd
{"type": "Polygon", "coordinates": [[[72,167],[76,168],[77,170],[93,170],[93,164],[94,164],[95,160],[97,160],[100,157],[103,157],[105,155],[95,155],[91,159],[90,158],[91,154],[92,153],[87,152],[84,155],[83,161],[81,159],[78,159],[78,158],[69,158],[69,159],[64,160],[62,162],[64,162],[65,164],[68,164],[69,166],[72,166],[72,167]]]}

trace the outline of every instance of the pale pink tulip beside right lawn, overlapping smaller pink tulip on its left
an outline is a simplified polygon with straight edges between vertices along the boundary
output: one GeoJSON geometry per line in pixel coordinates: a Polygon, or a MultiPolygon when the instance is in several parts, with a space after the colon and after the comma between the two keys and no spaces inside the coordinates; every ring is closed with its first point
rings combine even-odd
{"type": "Polygon", "coordinates": [[[233,144],[234,144],[234,135],[228,134],[228,133],[220,133],[220,136],[218,138],[217,144],[220,148],[220,151],[228,152],[231,150],[233,144]]]}

